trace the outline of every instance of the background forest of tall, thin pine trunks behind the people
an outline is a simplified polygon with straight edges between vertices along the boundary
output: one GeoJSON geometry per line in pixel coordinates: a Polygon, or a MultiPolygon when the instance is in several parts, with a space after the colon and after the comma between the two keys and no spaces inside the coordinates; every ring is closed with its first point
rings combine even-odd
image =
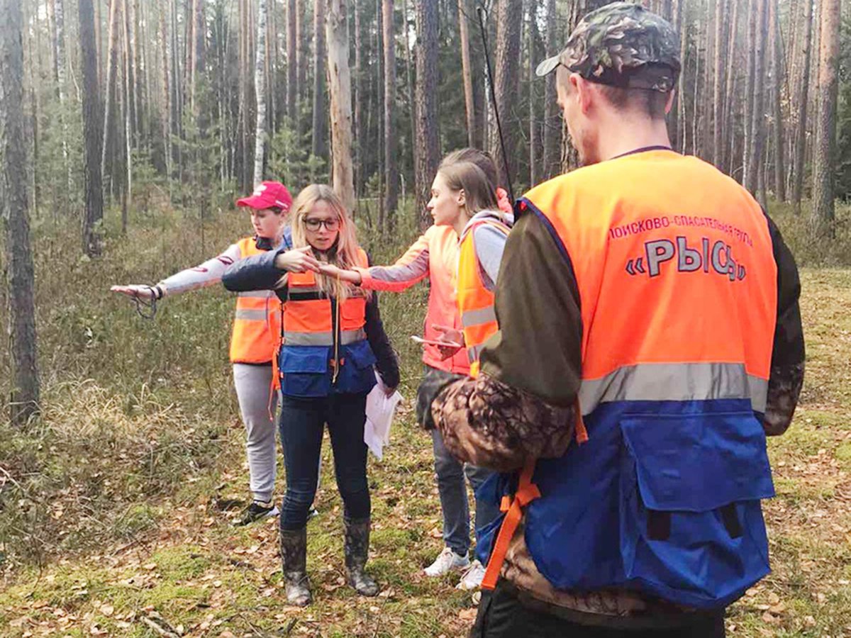
{"type": "MultiPolygon", "coordinates": [[[[31,214],[79,216],[83,250],[94,255],[103,207],[120,209],[126,227],[128,209],[145,208],[153,186],[203,208],[264,178],[292,191],[333,181],[351,189],[352,203],[365,198],[384,229],[400,197],[422,211],[446,151],[486,148],[506,180],[479,4],[23,0],[31,214]]],[[[517,193],[574,164],[553,79],[534,77],[534,66],[601,4],[484,2],[517,193]]],[[[799,207],[812,194],[815,214],[832,219],[834,186],[837,197],[851,194],[848,7],[648,6],[682,36],[669,116],[677,150],[714,162],[762,202],[771,194],[799,207]]]]}

